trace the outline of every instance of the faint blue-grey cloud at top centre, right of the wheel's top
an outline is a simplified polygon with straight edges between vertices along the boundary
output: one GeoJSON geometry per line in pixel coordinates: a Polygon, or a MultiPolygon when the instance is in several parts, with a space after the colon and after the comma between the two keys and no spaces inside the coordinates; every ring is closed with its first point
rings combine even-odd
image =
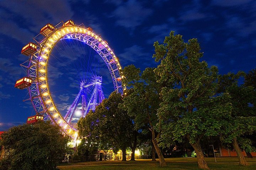
{"type": "Polygon", "coordinates": [[[153,13],[153,10],[146,8],[140,1],[130,0],[119,5],[112,12],[111,17],[117,18],[116,24],[129,29],[140,26],[146,18],[153,13]]]}

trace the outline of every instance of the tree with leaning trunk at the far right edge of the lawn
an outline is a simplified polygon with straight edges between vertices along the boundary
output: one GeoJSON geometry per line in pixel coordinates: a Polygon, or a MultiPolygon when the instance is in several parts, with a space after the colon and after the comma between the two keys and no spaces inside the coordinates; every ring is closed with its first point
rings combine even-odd
{"type": "Polygon", "coordinates": [[[248,165],[240,147],[247,153],[254,151],[252,141],[246,135],[251,135],[256,128],[256,91],[252,86],[246,86],[250,84],[248,79],[246,85],[239,85],[239,79],[244,75],[244,72],[220,75],[218,89],[219,93],[229,93],[233,106],[231,118],[226,118],[229,123],[225,126],[221,140],[235,149],[240,165],[248,165]]]}

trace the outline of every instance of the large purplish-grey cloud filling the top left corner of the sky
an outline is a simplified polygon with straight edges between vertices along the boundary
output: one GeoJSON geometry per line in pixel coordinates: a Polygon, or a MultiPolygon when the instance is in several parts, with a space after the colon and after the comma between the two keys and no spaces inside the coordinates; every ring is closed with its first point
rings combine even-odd
{"type": "Polygon", "coordinates": [[[1,16],[0,33],[10,36],[20,42],[30,41],[47,23],[57,24],[62,19],[68,20],[73,16],[67,0],[44,1],[0,1],[1,16]],[[17,23],[16,18],[21,23],[17,23]],[[26,25],[30,24],[30,25],[26,25]]]}

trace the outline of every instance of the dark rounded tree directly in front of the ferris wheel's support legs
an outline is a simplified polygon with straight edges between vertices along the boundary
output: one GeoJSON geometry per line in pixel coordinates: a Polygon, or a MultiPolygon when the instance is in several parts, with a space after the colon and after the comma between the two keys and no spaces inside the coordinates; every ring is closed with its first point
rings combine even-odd
{"type": "Polygon", "coordinates": [[[90,111],[85,118],[79,119],[78,130],[81,137],[98,143],[101,149],[122,149],[122,160],[126,161],[126,148],[133,135],[133,123],[127,112],[118,108],[122,99],[121,94],[112,92],[96,107],[95,112],[90,111]]]}

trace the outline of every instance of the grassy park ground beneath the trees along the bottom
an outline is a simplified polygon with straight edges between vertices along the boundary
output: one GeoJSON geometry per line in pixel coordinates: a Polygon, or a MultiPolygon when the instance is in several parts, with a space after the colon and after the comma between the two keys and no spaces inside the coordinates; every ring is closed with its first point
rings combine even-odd
{"type": "MultiPolygon", "coordinates": [[[[249,166],[239,165],[238,158],[206,158],[211,170],[256,170],[256,159],[246,158],[249,166]]],[[[167,166],[160,167],[159,162],[150,159],[136,161],[98,161],[68,163],[58,166],[60,170],[199,170],[197,158],[167,158],[167,166]]]]}

